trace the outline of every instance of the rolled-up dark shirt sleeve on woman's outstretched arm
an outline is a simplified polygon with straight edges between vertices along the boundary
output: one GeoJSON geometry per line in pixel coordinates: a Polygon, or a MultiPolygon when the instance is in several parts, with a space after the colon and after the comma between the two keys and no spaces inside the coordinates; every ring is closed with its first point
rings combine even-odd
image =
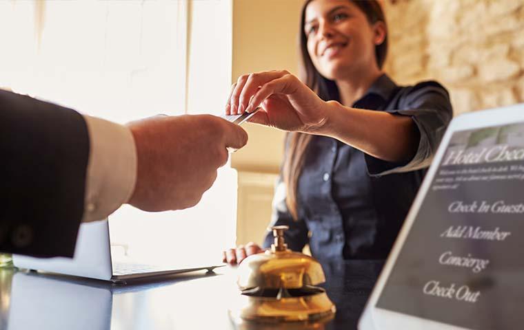
{"type": "Polygon", "coordinates": [[[430,166],[447,125],[453,117],[450,96],[445,88],[434,81],[419,83],[412,87],[399,102],[401,109],[387,111],[397,115],[409,115],[419,129],[419,147],[407,162],[387,162],[365,154],[367,173],[379,177],[391,173],[410,172],[430,166]]]}

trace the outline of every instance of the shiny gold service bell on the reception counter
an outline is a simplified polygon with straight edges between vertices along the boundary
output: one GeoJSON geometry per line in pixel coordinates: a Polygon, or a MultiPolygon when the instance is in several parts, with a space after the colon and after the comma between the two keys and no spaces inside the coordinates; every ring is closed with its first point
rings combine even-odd
{"type": "Polygon", "coordinates": [[[288,250],[287,225],[272,227],[271,250],[248,256],[239,265],[241,289],[230,316],[237,322],[317,322],[330,320],[336,309],[325,290],[322,266],[312,256],[288,250]]]}

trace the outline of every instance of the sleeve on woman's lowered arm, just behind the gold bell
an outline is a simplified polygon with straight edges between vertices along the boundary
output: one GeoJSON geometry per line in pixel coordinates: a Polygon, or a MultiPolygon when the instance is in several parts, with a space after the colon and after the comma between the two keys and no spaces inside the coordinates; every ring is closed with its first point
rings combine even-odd
{"type": "MultiPolygon", "coordinates": [[[[290,229],[284,232],[285,243],[292,251],[301,252],[308,243],[308,226],[303,219],[294,220],[285,203],[285,184],[279,179],[276,184],[275,193],[272,202],[272,219],[270,227],[274,225],[288,225],[290,229]]],[[[271,248],[273,243],[273,234],[269,231],[265,235],[263,248],[271,248]]]]}

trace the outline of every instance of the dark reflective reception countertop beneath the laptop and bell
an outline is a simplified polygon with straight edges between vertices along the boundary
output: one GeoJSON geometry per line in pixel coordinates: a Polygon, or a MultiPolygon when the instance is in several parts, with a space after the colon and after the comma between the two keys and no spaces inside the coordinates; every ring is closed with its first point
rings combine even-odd
{"type": "MultiPolygon", "coordinates": [[[[382,266],[383,261],[323,263],[323,287],[337,312],[314,329],[356,329],[382,266]]],[[[228,317],[228,302],[238,294],[235,281],[231,267],[125,286],[3,269],[0,329],[252,329],[228,317]]]]}

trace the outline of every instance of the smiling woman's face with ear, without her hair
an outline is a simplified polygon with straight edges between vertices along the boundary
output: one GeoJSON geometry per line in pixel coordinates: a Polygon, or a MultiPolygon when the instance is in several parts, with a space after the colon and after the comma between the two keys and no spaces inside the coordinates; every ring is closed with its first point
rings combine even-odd
{"type": "Polygon", "coordinates": [[[384,41],[385,25],[370,25],[351,1],[313,0],[305,8],[304,32],[316,69],[341,80],[376,67],[375,46],[384,41]]]}

